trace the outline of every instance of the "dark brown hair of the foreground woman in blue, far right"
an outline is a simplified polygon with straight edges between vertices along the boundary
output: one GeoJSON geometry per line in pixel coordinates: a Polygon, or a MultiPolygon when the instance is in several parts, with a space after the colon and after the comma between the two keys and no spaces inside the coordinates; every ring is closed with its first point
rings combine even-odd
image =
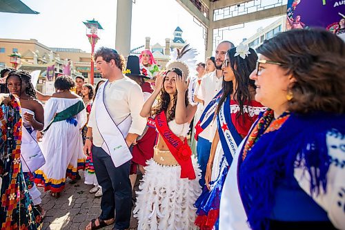
{"type": "Polygon", "coordinates": [[[322,29],[288,30],[264,41],[257,52],[281,63],[295,82],[288,111],[345,113],[345,43],[322,29]]]}

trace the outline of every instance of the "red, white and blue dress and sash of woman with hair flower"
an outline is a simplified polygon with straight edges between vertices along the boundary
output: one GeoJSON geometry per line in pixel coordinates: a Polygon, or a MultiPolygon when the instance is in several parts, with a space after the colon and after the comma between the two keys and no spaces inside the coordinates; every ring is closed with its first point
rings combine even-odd
{"type": "MultiPolygon", "coordinates": [[[[221,191],[233,161],[237,146],[242,142],[242,136],[248,134],[250,126],[255,122],[260,112],[266,108],[254,100],[244,105],[244,117],[239,114],[239,104],[228,95],[217,114],[219,143],[215,153],[212,171],[211,190],[204,186],[203,192],[195,202],[197,219],[195,224],[200,229],[218,229],[219,205],[221,191]]],[[[214,113],[213,113],[214,114],[214,113]]]]}

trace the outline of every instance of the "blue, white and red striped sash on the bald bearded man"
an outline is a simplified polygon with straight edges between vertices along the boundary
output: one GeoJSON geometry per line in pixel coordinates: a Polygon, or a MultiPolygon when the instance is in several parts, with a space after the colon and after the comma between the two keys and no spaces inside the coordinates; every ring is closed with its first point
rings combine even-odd
{"type": "Polygon", "coordinates": [[[212,122],[213,117],[215,117],[215,111],[217,109],[217,105],[221,95],[223,95],[223,89],[221,89],[219,93],[217,93],[217,95],[213,97],[213,99],[204,109],[199,122],[197,122],[197,124],[195,125],[195,140],[198,140],[199,134],[204,131],[205,128],[207,128],[207,126],[212,122]]]}

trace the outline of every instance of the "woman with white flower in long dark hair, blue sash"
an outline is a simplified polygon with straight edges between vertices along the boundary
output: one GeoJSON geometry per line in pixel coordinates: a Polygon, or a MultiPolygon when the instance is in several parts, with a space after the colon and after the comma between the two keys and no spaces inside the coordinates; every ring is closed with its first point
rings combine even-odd
{"type": "Polygon", "coordinates": [[[257,54],[252,48],[240,44],[226,52],[221,66],[224,79],[222,95],[215,111],[218,131],[213,138],[206,166],[206,187],[195,206],[200,229],[218,229],[219,200],[228,167],[243,137],[260,112],[266,108],[255,102],[255,84],[249,79],[255,69],[257,54]]]}

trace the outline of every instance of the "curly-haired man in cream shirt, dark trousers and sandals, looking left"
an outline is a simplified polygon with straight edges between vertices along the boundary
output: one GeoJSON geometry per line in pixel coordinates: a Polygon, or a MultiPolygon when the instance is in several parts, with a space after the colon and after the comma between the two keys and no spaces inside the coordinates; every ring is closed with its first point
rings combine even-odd
{"type": "MultiPolygon", "coordinates": [[[[128,229],[132,209],[132,188],[129,179],[130,160],[115,166],[116,162],[114,163],[109,153],[102,148],[103,142],[107,139],[106,136],[102,135],[99,124],[108,122],[110,125],[110,122],[113,122],[119,128],[119,124],[130,116],[128,135],[124,135],[129,148],[136,138],[143,133],[146,126],[146,118],[139,115],[144,105],[144,95],[136,82],[122,74],[124,57],[119,55],[116,50],[102,47],[95,52],[95,60],[97,70],[103,78],[108,79],[108,82],[104,83],[104,89],[102,88],[104,91],[99,89],[104,92],[103,95],[99,95],[103,96],[103,103],[101,100],[95,99],[92,105],[84,153],[88,154],[92,151],[95,173],[97,181],[103,189],[103,196],[101,198],[101,215],[92,220],[86,229],[104,227],[112,224],[114,220],[114,229],[128,229]],[[96,110],[96,107],[100,108],[99,106],[106,106],[110,116],[108,120],[99,120],[101,115],[97,113],[99,109],[96,110]]],[[[121,131],[120,128],[119,130],[121,131]]],[[[121,131],[121,133],[123,132],[121,131]]],[[[107,142],[106,144],[108,146],[107,142]]],[[[119,147],[123,146],[120,145],[119,147]]],[[[112,150],[108,149],[108,151],[112,150]]]]}

